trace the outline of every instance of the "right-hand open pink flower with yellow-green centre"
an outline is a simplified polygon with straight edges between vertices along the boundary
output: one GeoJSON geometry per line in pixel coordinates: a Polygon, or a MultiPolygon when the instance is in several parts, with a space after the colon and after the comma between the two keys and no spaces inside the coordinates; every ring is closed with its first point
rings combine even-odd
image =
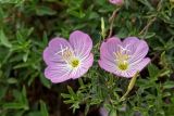
{"type": "Polygon", "coordinates": [[[122,42],[117,37],[109,38],[100,47],[99,65],[120,77],[130,78],[149,62],[149,47],[145,40],[127,37],[122,42]]]}

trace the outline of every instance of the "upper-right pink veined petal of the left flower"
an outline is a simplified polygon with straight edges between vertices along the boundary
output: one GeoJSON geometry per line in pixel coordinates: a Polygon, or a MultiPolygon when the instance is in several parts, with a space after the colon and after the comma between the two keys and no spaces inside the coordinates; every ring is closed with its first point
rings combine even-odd
{"type": "Polygon", "coordinates": [[[70,35],[70,43],[74,49],[75,55],[84,57],[88,55],[92,49],[91,38],[79,30],[76,30],[70,35]]]}

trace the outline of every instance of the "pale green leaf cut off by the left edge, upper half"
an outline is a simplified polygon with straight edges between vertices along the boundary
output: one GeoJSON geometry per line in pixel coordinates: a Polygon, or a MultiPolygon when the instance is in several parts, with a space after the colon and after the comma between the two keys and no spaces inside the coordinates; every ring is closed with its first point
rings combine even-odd
{"type": "Polygon", "coordinates": [[[2,29],[0,30],[0,44],[4,46],[7,48],[12,48],[11,42],[8,40],[8,38],[4,35],[4,31],[2,29]]]}

